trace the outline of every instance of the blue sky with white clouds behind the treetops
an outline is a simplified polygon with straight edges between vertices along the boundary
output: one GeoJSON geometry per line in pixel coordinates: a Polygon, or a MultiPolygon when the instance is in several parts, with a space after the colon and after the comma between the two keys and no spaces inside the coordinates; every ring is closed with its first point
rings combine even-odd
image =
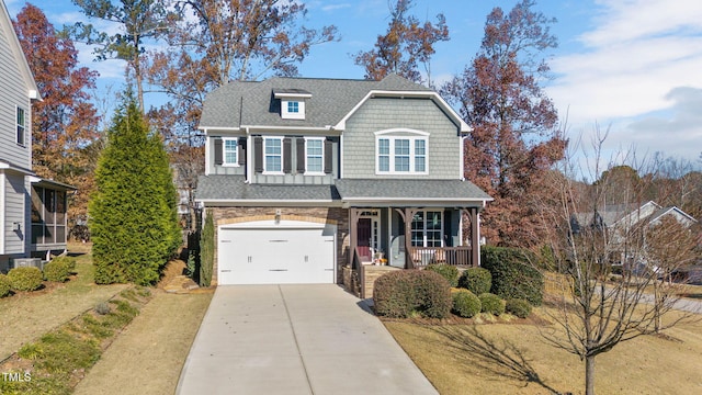
{"type": "MultiPolygon", "coordinates": [[[[12,16],[25,4],[4,1],[12,16]]],[[[432,79],[441,83],[461,72],[479,49],[486,15],[495,7],[508,12],[516,2],[415,0],[412,14],[435,21],[443,13],[450,30],[451,41],[435,45],[432,79]]],[[[57,29],[87,21],[70,0],[32,3],[57,29]]],[[[333,24],[341,40],[314,47],[301,75],[363,78],[352,55],[372,48],[387,30],[388,0],[305,3],[304,24],[333,24]]],[[[557,20],[551,29],[558,47],[546,54],[554,78],[544,89],[558,110],[574,156],[592,157],[592,136],[599,128],[609,131],[604,161],[616,165],[632,151],[639,160],[660,153],[702,167],[702,1],[537,0],[533,9],[557,20]]],[[[124,64],[95,63],[90,48],[77,48],[81,63],[101,75],[99,93],[114,97],[124,81],[124,64]]],[[[146,100],[148,105],[148,95],[146,100]]]]}

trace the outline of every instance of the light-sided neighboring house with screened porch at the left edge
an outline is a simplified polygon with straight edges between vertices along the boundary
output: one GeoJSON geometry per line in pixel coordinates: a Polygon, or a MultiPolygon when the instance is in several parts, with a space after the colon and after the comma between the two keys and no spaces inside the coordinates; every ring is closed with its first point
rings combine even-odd
{"type": "Polygon", "coordinates": [[[41,100],[0,0],[0,271],[66,249],[66,192],[32,172],[32,101],[41,100]]]}

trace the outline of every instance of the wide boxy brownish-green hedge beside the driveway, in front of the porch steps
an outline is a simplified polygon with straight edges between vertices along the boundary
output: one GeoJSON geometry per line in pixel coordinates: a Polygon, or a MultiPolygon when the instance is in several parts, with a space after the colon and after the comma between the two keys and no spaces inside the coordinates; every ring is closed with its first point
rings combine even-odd
{"type": "Polygon", "coordinates": [[[373,302],[377,315],[393,318],[407,318],[416,313],[444,318],[453,305],[446,279],[429,270],[399,270],[381,275],[373,285],[373,302]]]}

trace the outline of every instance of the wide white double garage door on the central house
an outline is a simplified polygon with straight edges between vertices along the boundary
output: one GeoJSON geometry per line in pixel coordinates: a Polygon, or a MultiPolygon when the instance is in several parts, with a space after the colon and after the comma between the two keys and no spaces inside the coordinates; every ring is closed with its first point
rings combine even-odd
{"type": "Polygon", "coordinates": [[[335,283],[335,237],[314,228],[220,228],[218,283],[335,283]]]}

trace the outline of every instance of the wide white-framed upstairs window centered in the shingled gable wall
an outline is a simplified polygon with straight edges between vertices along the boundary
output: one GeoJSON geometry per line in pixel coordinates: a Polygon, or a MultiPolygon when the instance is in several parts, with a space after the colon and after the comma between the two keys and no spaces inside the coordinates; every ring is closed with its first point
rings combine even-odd
{"type": "Polygon", "coordinates": [[[376,133],[382,134],[376,143],[376,173],[426,174],[428,135],[418,132],[421,136],[385,136],[385,133],[376,133]]]}

